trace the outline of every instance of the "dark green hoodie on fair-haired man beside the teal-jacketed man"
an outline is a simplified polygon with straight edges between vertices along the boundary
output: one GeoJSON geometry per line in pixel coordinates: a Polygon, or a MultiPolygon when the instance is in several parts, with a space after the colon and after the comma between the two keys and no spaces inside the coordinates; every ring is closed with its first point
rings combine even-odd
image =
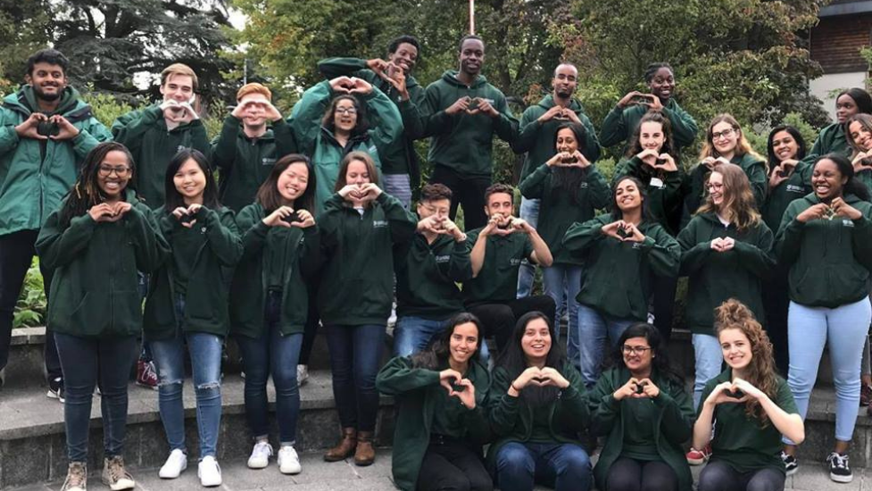
{"type": "Polygon", "coordinates": [[[163,178],[179,149],[193,148],[204,155],[211,150],[203,121],[167,129],[160,104],[120,116],[112,123],[112,135],[133,154],[133,185],[153,210],[163,205],[163,178]]]}

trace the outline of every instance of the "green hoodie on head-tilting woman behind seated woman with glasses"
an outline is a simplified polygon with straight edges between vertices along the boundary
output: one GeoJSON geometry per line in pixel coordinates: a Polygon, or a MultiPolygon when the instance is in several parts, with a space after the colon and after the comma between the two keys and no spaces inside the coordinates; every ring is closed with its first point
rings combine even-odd
{"type": "Polygon", "coordinates": [[[577,300],[612,317],[645,320],[652,277],[677,276],[681,248],[655,221],[639,225],[645,236],[642,242],[622,242],[602,233],[603,225],[618,220],[605,213],[572,225],[563,237],[563,246],[571,253],[587,254],[588,267],[577,300]]]}

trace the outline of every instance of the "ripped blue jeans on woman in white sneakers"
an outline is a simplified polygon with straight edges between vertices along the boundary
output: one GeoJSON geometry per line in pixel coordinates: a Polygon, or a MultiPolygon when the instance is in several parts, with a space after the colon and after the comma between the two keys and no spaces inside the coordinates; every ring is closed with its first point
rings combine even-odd
{"type": "MultiPolygon", "coordinates": [[[[185,301],[176,304],[177,318],[184,317],[185,301]]],[[[200,436],[200,458],[215,456],[221,425],[221,345],[223,339],[203,332],[183,332],[179,327],[175,337],[149,343],[159,378],[158,395],[163,429],[170,443],[170,452],[185,445],[185,407],[182,404],[182,384],[185,381],[185,345],[191,354],[196,393],[197,429],[200,436]]]]}

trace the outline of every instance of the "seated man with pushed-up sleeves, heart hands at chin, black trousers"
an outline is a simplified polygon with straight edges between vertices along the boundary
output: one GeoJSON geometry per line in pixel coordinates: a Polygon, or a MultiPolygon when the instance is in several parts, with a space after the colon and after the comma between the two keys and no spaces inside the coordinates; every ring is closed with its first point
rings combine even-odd
{"type": "Polygon", "coordinates": [[[554,301],[550,296],[517,298],[520,262],[527,259],[547,268],[553,258],[536,229],[512,216],[513,196],[511,186],[487,187],[484,212],[488,220],[485,227],[468,233],[467,240],[474,244],[469,253],[473,279],[463,283],[467,312],[478,316],[486,334],[496,338],[501,352],[520,316],[539,311],[554,320],[554,301]]]}

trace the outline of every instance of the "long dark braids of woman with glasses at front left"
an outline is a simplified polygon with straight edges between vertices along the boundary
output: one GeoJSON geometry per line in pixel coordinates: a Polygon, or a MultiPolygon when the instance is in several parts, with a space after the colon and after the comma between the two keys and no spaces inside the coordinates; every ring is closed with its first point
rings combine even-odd
{"type": "MultiPolygon", "coordinates": [[[[98,144],[85,155],[85,160],[82,162],[82,169],[79,171],[79,177],[73,185],[70,194],[67,195],[67,200],[64,202],[61,212],[59,213],[59,225],[61,229],[66,229],[70,226],[70,221],[78,216],[84,215],[92,206],[101,204],[106,200],[103,194],[103,189],[97,184],[97,172],[100,171],[100,164],[110,152],[121,152],[127,155],[127,162],[130,168],[130,176],[132,178],[134,169],[133,155],[126,146],[117,142],[104,142],[98,144]]],[[[121,199],[124,199],[124,190],[130,187],[131,181],[128,180],[127,185],[121,190],[121,199]]]]}

